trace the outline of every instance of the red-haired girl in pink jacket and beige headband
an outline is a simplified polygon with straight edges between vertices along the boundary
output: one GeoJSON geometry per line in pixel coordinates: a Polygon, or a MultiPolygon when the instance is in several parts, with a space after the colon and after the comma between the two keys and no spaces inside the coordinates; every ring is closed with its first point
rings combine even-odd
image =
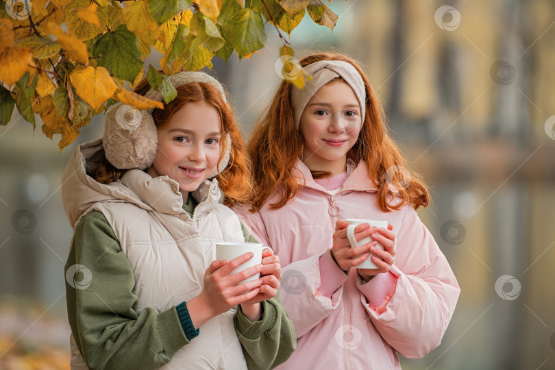
{"type": "Polygon", "coordinates": [[[356,62],[315,53],[300,64],[312,79],[277,88],[247,145],[254,191],[234,207],[282,263],[297,350],[278,369],[400,369],[397,352],[420,358],[441,343],[460,293],[415,212],[430,195],[356,62]],[[351,248],[345,219],[388,227],[356,226],[371,242],[351,248]],[[368,258],[377,269],[357,268],[368,258]]]}

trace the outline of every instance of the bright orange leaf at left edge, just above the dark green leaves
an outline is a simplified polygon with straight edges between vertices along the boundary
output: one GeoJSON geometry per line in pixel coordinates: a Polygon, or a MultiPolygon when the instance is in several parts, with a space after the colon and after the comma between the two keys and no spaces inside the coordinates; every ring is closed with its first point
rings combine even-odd
{"type": "Polygon", "coordinates": [[[10,88],[35,66],[30,47],[7,47],[0,52],[0,79],[10,88]]]}

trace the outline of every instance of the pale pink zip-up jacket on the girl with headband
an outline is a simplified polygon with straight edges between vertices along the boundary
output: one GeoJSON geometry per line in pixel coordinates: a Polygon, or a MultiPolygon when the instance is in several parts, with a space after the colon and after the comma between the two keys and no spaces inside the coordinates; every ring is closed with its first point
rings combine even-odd
{"type": "MultiPolygon", "coordinates": [[[[420,358],[441,343],[460,288],[411,206],[382,212],[365,162],[332,197],[300,160],[306,185],[279,210],[234,208],[282,264],[280,295],[297,332],[297,350],[277,369],[401,369],[397,352],[420,358]],[[335,206],[335,207],[334,207],[335,206]],[[338,218],[384,219],[397,236],[395,265],[362,284],[332,260],[338,218]]],[[[303,184],[303,180],[299,180],[303,184]]],[[[275,197],[268,203],[275,201],[275,197]]]]}

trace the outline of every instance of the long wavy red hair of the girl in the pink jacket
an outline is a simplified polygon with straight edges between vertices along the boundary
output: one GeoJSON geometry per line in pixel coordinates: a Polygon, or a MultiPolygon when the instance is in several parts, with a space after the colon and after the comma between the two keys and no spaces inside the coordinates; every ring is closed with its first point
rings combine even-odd
{"type": "MultiPolygon", "coordinates": [[[[366,114],[355,145],[347,153],[356,164],[367,163],[370,177],[378,186],[378,206],[384,212],[399,210],[406,204],[414,208],[428,206],[430,193],[421,177],[411,169],[401,156],[385,123],[384,112],[378,97],[360,66],[347,56],[338,53],[314,53],[299,62],[307,66],[321,60],[342,60],[354,66],[366,89],[366,114]],[[388,173],[388,169],[402,169],[388,173]],[[407,178],[408,177],[408,178],[407,178]],[[389,185],[397,188],[393,193],[389,185]],[[395,201],[391,196],[396,195],[395,201]],[[400,199],[400,201],[399,201],[400,199]]],[[[282,81],[266,112],[260,116],[251,134],[247,151],[251,158],[254,192],[249,204],[251,211],[260,210],[273,193],[280,191],[270,208],[278,209],[295,197],[299,190],[295,163],[303,153],[304,140],[295,123],[291,104],[292,84],[282,81]]],[[[391,172],[391,170],[390,170],[391,172]]]]}

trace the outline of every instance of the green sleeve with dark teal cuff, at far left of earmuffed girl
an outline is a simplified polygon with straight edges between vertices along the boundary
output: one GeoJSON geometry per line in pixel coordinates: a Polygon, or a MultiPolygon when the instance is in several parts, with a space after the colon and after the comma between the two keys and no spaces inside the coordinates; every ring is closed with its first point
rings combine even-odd
{"type": "Polygon", "coordinates": [[[101,212],[77,225],[64,270],[69,324],[91,369],[158,369],[189,343],[175,306],[137,314],[132,268],[101,212]]]}

